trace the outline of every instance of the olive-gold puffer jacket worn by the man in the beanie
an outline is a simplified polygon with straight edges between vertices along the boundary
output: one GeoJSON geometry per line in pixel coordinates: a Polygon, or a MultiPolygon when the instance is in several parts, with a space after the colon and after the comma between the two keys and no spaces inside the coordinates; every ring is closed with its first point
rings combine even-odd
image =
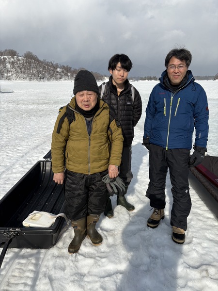
{"type": "Polygon", "coordinates": [[[66,169],[82,174],[94,174],[108,169],[109,164],[120,165],[123,150],[122,129],[117,127],[115,119],[110,123],[109,106],[98,98],[99,110],[95,113],[92,132],[89,135],[86,120],[75,111],[75,97],[69,106],[75,112],[75,121],[70,126],[65,118],[60,133],[57,133],[59,120],[66,112],[66,106],[59,113],[52,133],[51,155],[54,173],[64,171],[64,154],[66,169]],[[111,143],[109,127],[112,130],[111,143]]]}

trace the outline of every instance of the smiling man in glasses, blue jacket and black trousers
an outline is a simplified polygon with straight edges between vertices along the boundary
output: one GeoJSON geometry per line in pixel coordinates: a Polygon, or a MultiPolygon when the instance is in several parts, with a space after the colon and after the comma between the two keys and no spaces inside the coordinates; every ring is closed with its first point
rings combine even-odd
{"type": "Polygon", "coordinates": [[[184,48],[172,49],[166,56],[166,70],[149,97],[142,143],[149,150],[150,181],[146,196],[154,208],[147,225],[155,228],[164,219],[169,168],[173,196],[172,240],[179,244],[185,242],[191,210],[189,167],[202,162],[209,129],[206,93],[188,70],[191,59],[190,51],[184,48]],[[190,157],[194,129],[194,152],[190,157]]]}

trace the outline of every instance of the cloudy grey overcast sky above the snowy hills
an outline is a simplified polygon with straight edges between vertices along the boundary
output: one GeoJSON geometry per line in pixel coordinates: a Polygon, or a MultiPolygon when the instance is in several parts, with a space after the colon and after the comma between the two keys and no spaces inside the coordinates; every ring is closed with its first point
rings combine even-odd
{"type": "Polygon", "coordinates": [[[195,76],[218,73],[218,0],[0,0],[0,50],[20,56],[102,72],[125,53],[159,77],[176,44],[195,76]]]}

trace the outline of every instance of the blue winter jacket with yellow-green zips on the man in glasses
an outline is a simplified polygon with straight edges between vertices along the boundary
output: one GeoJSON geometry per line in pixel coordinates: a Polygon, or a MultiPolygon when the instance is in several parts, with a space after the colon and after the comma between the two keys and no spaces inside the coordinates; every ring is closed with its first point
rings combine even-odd
{"type": "Polygon", "coordinates": [[[187,82],[173,93],[163,83],[166,74],[165,70],[149,97],[143,137],[166,149],[190,150],[195,128],[195,146],[206,147],[209,110],[205,91],[188,70],[187,82]]]}

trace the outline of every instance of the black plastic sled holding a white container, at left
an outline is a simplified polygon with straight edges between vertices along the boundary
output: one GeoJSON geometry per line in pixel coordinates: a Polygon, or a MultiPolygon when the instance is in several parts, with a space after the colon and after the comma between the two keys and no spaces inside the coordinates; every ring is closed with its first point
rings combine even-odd
{"type": "MultiPolygon", "coordinates": [[[[63,217],[50,227],[24,227],[23,221],[33,211],[52,214],[64,212],[63,185],[53,181],[51,161],[38,161],[0,200],[0,245],[2,262],[8,247],[49,248],[58,240],[63,217]]],[[[1,264],[1,263],[0,263],[1,264]]]]}

